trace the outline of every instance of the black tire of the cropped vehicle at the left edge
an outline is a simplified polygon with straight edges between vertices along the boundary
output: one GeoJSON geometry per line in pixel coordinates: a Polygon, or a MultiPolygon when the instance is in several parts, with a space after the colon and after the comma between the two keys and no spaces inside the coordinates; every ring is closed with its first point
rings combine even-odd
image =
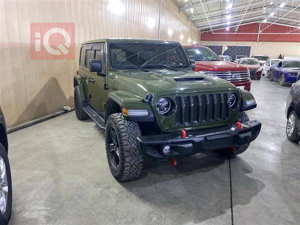
{"type": "Polygon", "coordinates": [[[12,204],[11,173],[10,173],[10,166],[7,157],[7,152],[1,143],[0,143],[0,156],[2,157],[5,163],[5,172],[6,172],[7,187],[8,187],[6,210],[4,213],[0,212],[0,224],[8,224],[11,215],[11,204],[12,204]]]}

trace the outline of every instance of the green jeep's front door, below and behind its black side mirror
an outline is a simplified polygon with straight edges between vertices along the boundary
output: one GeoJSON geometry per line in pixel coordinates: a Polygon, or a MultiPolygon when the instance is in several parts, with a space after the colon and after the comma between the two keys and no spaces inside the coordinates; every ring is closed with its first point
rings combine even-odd
{"type": "MultiPolygon", "coordinates": [[[[106,90],[104,84],[106,83],[106,66],[105,66],[105,49],[103,43],[95,43],[92,46],[92,54],[90,58],[100,59],[102,64],[101,74],[96,72],[89,72],[87,78],[88,92],[90,97],[90,105],[104,116],[104,105],[106,101],[106,90]]],[[[89,58],[89,59],[90,59],[89,58]]],[[[89,68],[89,59],[87,61],[87,67],[89,68]]]]}

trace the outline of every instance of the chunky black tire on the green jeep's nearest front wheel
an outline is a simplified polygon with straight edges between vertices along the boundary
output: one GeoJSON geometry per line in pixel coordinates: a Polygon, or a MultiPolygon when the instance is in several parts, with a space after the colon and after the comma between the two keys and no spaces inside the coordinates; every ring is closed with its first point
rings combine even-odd
{"type": "Polygon", "coordinates": [[[137,178],[143,169],[143,155],[139,152],[136,137],[141,135],[136,122],[124,120],[122,113],[109,115],[105,127],[105,147],[109,169],[117,181],[137,178]],[[119,164],[115,167],[111,161],[111,151],[108,146],[109,130],[116,132],[119,146],[119,164]]]}

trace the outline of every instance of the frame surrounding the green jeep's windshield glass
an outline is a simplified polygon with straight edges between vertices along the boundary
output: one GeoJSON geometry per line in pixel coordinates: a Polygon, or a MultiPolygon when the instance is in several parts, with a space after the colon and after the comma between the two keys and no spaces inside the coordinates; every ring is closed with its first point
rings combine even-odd
{"type": "MultiPolygon", "coordinates": [[[[182,59],[185,59],[186,62],[187,62],[187,66],[186,67],[173,67],[171,66],[172,68],[174,68],[174,70],[178,70],[178,71],[182,71],[182,70],[192,70],[191,68],[191,64],[189,62],[189,59],[182,47],[182,45],[180,43],[177,43],[175,41],[136,41],[134,39],[132,40],[127,40],[127,41],[117,41],[117,40],[114,40],[114,41],[109,41],[106,43],[106,48],[107,48],[107,60],[106,60],[106,66],[107,66],[107,69],[110,70],[110,71],[118,71],[118,70],[140,70],[140,66],[136,65],[136,68],[133,68],[135,65],[132,65],[132,66],[123,66],[123,65],[119,65],[118,67],[115,67],[115,66],[112,66],[112,63],[111,63],[111,48],[110,48],[110,44],[114,44],[114,43],[120,43],[120,44],[128,44],[128,46],[130,44],[134,44],[134,43],[139,43],[139,44],[168,44],[168,45],[177,45],[178,48],[180,48],[181,50],[181,53],[182,53],[182,59]],[[128,68],[126,68],[128,67],[128,68]],[[130,67],[130,68],[129,68],[130,67]]],[[[166,52],[166,51],[165,51],[166,52]]],[[[158,64],[161,64],[161,63],[158,63],[158,64]]],[[[157,64],[157,65],[158,65],[157,64]]],[[[151,65],[151,64],[150,64],[151,65]]],[[[166,64],[167,66],[170,66],[169,64],[166,64]]],[[[166,66],[157,66],[157,67],[147,67],[147,66],[142,66],[142,69],[146,69],[146,70],[173,70],[173,69],[168,69],[166,66]]]]}

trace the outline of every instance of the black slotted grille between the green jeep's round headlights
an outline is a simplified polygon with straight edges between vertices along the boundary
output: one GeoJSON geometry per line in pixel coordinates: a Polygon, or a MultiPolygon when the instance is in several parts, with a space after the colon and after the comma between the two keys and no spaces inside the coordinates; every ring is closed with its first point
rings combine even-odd
{"type": "Polygon", "coordinates": [[[176,96],[176,126],[226,120],[227,93],[176,96]]]}

